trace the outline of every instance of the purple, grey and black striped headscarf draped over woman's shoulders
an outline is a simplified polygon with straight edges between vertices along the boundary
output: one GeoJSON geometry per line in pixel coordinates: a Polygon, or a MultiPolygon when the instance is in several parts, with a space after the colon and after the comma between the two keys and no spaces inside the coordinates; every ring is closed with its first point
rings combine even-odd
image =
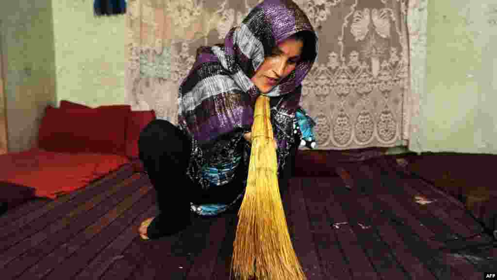
{"type": "Polygon", "coordinates": [[[278,98],[279,109],[294,114],[301,82],[317,56],[317,36],[308,17],[291,0],[265,0],[255,6],[240,26],[232,28],[224,44],[200,47],[196,61],[182,81],[178,95],[178,125],[201,147],[242,128],[250,130],[253,106],[261,94],[250,78],[272,49],[299,31],[315,36],[314,53],[265,95],[278,98]]]}

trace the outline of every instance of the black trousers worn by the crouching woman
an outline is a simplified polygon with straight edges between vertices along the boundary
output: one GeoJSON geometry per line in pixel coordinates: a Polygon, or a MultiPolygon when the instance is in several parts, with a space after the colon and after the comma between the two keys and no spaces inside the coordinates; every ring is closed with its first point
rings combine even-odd
{"type": "MultiPolygon", "coordinates": [[[[138,149],[140,159],[156,190],[160,214],[170,213],[177,218],[189,217],[190,202],[228,204],[233,202],[245,187],[243,180],[246,179],[247,168],[242,160],[234,180],[220,187],[202,190],[200,185],[186,174],[191,140],[166,120],[154,120],[143,129],[138,140],[138,149]]],[[[280,191],[287,186],[296,151],[295,146],[283,174],[279,176],[280,191]]]]}

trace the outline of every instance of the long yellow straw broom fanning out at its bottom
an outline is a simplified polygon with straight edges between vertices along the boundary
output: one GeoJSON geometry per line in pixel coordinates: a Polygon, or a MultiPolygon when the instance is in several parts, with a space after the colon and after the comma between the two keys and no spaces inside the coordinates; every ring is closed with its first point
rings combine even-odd
{"type": "Polygon", "coordinates": [[[305,280],[279,193],[267,96],[261,95],[255,102],[251,138],[247,188],[238,212],[231,273],[240,280],[305,280]]]}

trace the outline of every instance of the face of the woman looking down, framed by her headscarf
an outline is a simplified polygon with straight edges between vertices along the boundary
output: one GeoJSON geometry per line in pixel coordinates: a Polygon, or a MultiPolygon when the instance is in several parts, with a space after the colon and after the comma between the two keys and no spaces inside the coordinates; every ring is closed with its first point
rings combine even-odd
{"type": "Polygon", "coordinates": [[[288,38],[278,44],[272,54],[264,59],[251,78],[261,93],[268,93],[295,69],[300,61],[303,46],[302,40],[288,38]]]}

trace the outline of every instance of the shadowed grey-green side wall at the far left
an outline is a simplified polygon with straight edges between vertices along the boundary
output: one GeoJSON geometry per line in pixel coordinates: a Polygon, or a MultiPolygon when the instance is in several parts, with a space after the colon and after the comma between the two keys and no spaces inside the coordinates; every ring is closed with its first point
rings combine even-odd
{"type": "Polygon", "coordinates": [[[48,104],[55,104],[51,0],[2,1],[1,45],[9,151],[36,144],[48,104]]]}

